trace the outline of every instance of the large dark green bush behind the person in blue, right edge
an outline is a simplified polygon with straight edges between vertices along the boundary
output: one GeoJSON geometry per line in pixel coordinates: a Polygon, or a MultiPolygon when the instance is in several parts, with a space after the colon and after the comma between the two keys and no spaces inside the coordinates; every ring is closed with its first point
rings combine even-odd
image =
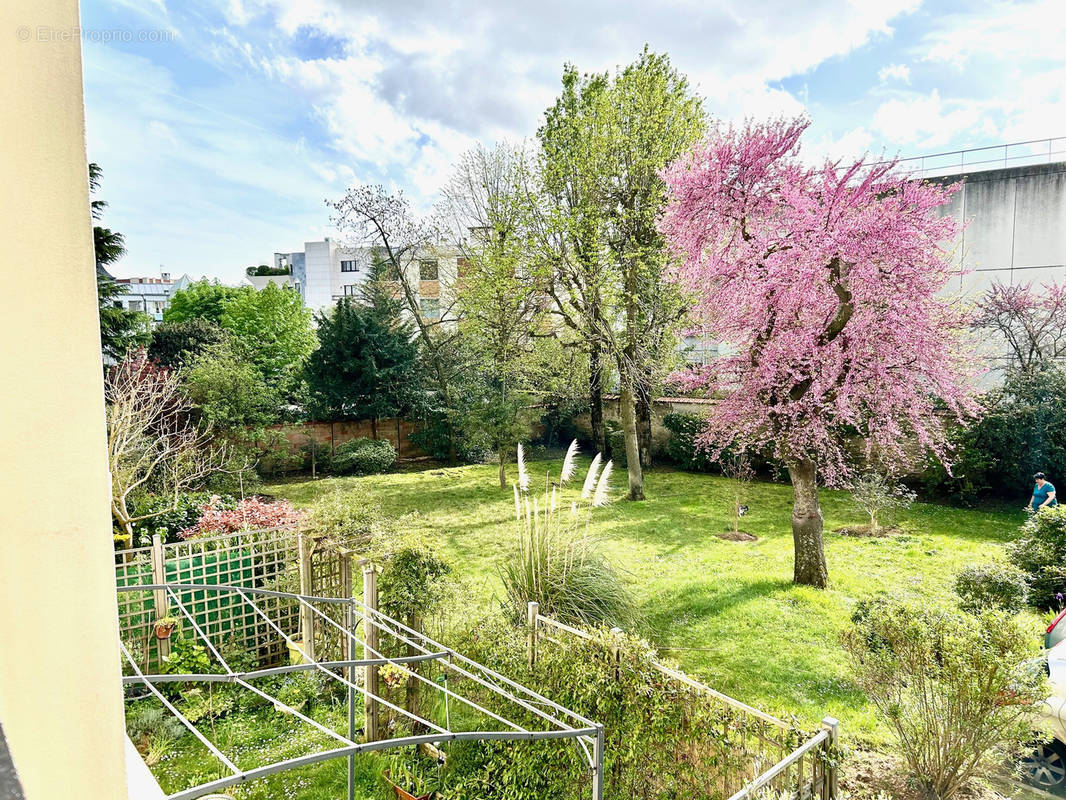
{"type": "Polygon", "coordinates": [[[1053,365],[1011,372],[983,405],[984,416],[954,434],[952,475],[931,466],[926,489],[968,505],[1025,500],[1035,473],[1066,463],[1066,372],[1053,365]]]}

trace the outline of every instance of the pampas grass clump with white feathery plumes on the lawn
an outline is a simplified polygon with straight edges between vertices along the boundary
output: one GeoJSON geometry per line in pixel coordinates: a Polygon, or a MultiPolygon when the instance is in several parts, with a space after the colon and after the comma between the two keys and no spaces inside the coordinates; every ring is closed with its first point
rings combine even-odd
{"type": "Polygon", "coordinates": [[[567,503],[563,494],[570,493],[563,485],[576,473],[577,453],[575,442],[567,450],[559,485],[545,489],[543,502],[529,496],[528,486],[515,484],[518,551],[502,565],[500,577],[518,614],[535,601],[542,613],[564,622],[632,628],[639,624],[632,597],[598,541],[588,534],[593,509],[610,502],[613,467],[608,462],[601,473],[597,454],[585,475],[580,502],[570,499],[567,503]]]}

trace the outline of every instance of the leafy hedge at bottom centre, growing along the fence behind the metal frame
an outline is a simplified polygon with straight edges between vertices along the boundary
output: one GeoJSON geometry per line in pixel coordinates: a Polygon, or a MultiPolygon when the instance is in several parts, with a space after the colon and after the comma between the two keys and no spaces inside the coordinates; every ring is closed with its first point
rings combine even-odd
{"type": "MultiPolygon", "coordinates": [[[[523,629],[489,619],[469,637],[467,653],[603,725],[604,797],[714,797],[723,778],[739,786],[740,771],[750,769],[732,735],[734,713],[664,678],[646,642],[603,629],[595,641],[562,635],[561,644],[542,642],[531,670],[524,637],[523,629]]],[[[542,724],[520,710],[513,716],[542,724]]],[[[486,789],[514,800],[588,796],[583,753],[559,742],[456,742],[448,757],[446,785],[454,800],[483,798],[486,789]]]]}

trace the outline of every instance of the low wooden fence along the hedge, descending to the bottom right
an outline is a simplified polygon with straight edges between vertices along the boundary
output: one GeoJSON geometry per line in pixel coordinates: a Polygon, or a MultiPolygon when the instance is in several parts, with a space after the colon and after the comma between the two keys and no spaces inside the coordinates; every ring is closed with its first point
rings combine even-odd
{"type": "MultiPolygon", "coordinates": [[[[527,622],[531,667],[536,662],[542,641],[559,642],[551,634],[543,631],[543,627],[598,641],[587,631],[545,617],[536,603],[529,604],[527,622]]],[[[623,631],[614,628],[611,633],[621,635],[623,631]]],[[[605,655],[617,659],[618,653],[613,646],[612,653],[605,655]]],[[[840,797],[834,748],[839,735],[836,719],[825,717],[821,730],[805,735],[797,743],[795,726],[785,720],[723,694],[672,667],[658,661],[652,661],[651,666],[726,711],[723,719],[728,731],[720,733],[742,757],[730,762],[732,766],[717,777],[722,797],[729,800],[776,800],[781,796],[793,800],[837,800],[840,797]]]]}

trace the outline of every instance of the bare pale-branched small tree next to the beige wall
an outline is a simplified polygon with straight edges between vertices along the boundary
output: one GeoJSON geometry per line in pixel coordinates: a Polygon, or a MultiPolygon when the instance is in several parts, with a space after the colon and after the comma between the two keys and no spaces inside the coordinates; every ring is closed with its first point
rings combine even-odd
{"type": "Polygon", "coordinates": [[[222,467],[225,447],[193,421],[178,373],[149,362],[143,349],[108,371],[104,396],[111,513],[132,543],[133,524],[176,508],[182,492],[222,467]],[[149,486],[169,501],[134,513],[133,495],[149,486]]]}

